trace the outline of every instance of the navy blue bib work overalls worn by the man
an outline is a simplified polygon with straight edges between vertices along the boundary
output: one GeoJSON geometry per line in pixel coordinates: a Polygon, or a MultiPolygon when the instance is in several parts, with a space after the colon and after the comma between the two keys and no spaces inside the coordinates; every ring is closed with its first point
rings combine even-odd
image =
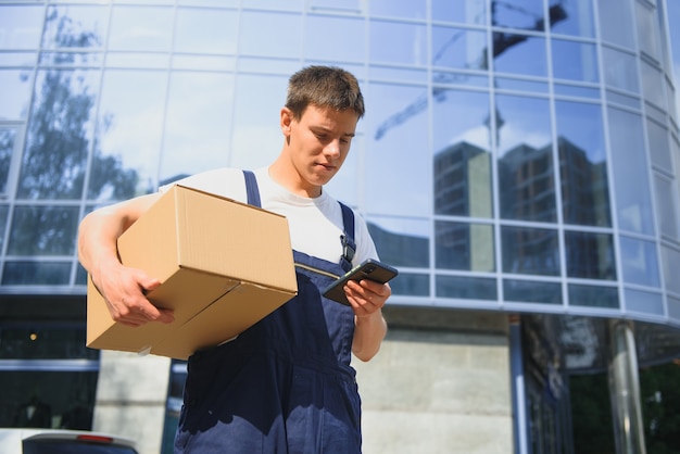
{"type": "MultiPolygon", "coordinates": [[[[248,203],[260,206],[254,175],[247,172],[245,181],[248,203]]],[[[231,342],[189,358],[175,453],[361,452],[354,313],[322,298],[333,278],[317,272],[351,268],[354,217],[342,211],[339,264],[293,251],[298,295],[231,342]]]]}

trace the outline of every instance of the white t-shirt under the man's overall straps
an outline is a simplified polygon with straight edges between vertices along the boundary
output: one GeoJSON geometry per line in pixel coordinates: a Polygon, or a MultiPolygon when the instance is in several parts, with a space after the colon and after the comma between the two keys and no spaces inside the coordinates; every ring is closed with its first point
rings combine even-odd
{"type": "MultiPolygon", "coordinates": [[[[297,196],[274,181],[266,167],[254,171],[254,174],[257,178],[262,207],[288,219],[292,248],[307,255],[338,263],[342,256],[340,236],[343,234],[342,210],[338,201],[326,190],[313,199],[297,196]]],[[[248,202],[243,172],[238,168],[203,172],[174,181],[172,185],[177,184],[239,202],[248,202]]],[[[161,187],[161,191],[167,190],[172,185],[161,187]]],[[[354,242],[356,253],[352,260],[353,265],[366,258],[378,258],[366,222],[356,213],[354,242]]]]}

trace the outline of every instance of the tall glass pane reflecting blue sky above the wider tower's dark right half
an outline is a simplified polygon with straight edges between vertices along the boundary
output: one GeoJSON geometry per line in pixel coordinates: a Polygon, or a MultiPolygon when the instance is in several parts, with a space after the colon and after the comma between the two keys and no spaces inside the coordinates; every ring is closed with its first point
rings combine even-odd
{"type": "Polygon", "coordinates": [[[600,105],[556,101],[562,207],[567,224],[612,225],[600,105]]]}

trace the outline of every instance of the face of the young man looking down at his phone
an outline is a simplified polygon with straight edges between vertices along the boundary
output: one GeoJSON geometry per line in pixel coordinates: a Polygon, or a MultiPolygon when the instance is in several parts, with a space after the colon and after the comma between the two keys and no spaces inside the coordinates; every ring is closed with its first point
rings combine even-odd
{"type": "Polygon", "coordinates": [[[310,105],[299,119],[287,109],[281,126],[290,160],[299,175],[300,189],[311,197],[338,173],[350,151],[358,116],[353,111],[338,112],[310,105]]]}

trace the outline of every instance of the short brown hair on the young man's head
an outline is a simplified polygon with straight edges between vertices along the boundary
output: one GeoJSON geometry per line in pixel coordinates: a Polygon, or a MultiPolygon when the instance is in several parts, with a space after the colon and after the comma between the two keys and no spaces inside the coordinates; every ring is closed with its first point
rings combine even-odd
{"type": "Polygon", "coordinates": [[[337,111],[349,109],[360,118],[365,113],[356,77],[335,66],[307,66],[290,77],[286,106],[299,119],[310,104],[337,111]]]}

